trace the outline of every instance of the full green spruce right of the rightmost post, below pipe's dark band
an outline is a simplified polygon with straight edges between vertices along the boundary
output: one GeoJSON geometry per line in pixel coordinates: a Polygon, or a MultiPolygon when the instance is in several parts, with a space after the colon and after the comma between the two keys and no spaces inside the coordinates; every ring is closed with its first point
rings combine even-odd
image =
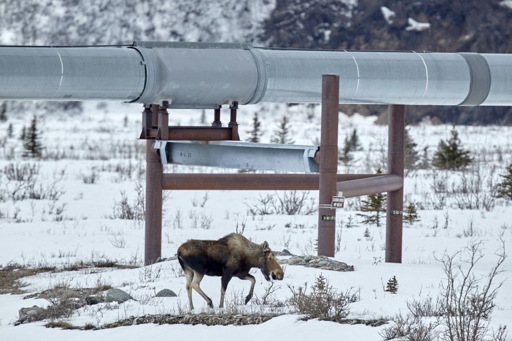
{"type": "Polygon", "coordinates": [[[432,164],[439,169],[458,170],[464,168],[473,161],[470,152],[463,150],[459,139],[459,133],[453,126],[451,137],[448,141],[441,140],[434,154],[432,164]]]}

